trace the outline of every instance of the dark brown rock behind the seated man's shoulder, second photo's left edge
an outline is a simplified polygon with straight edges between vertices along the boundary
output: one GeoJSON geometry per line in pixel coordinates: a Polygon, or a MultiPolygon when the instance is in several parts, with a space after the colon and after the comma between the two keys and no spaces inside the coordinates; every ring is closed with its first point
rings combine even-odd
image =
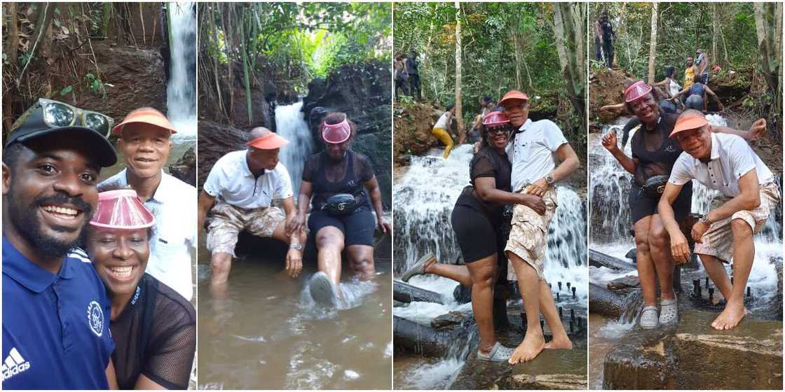
{"type": "Polygon", "coordinates": [[[248,141],[248,133],[229,125],[221,125],[216,122],[199,122],[199,181],[196,189],[202,190],[202,186],[213,169],[215,162],[228,152],[245,149],[248,141]]]}

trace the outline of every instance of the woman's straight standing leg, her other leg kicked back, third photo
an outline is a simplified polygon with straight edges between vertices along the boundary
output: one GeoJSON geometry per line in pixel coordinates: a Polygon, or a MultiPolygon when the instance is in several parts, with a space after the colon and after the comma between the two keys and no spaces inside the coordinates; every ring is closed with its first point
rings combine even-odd
{"type": "Polygon", "coordinates": [[[480,353],[489,354],[496,344],[493,326],[493,289],[496,281],[496,254],[467,263],[472,279],[472,310],[480,332],[480,353]]]}

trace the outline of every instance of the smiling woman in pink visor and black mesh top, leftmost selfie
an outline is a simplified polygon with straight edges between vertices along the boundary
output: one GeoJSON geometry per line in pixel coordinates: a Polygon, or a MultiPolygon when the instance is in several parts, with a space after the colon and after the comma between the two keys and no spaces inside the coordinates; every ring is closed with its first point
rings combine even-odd
{"type": "Polygon", "coordinates": [[[111,299],[120,389],[187,389],[196,350],[190,302],[145,274],[155,219],[136,191],[101,192],[86,250],[111,299]]]}

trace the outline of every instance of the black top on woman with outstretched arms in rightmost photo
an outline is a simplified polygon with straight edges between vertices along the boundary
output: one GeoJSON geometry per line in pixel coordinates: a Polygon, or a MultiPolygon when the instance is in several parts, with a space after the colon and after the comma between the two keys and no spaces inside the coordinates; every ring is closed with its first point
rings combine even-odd
{"type": "Polygon", "coordinates": [[[641,125],[630,141],[633,159],[637,159],[635,182],[641,187],[652,176],[670,176],[676,159],[681,155],[681,147],[676,139],[670,137],[676,125],[677,115],[659,111],[659,121],[654,132],[647,132],[640,120],[633,118],[624,126],[623,133],[629,134],[630,130],[641,125]],[[656,133],[655,133],[656,132],[656,133]],[[657,146],[652,143],[657,143],[657,146]]]}

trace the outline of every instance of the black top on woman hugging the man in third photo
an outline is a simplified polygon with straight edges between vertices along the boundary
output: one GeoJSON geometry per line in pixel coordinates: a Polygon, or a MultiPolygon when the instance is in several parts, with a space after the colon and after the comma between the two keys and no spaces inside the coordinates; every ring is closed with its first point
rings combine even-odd
{"type": "Polygon", "coordinates": [[[483,147],[474,154],[472,161],[469,162],[470,185],[463,188],[461,195],[458,196],[458,200],[455,201],[455,205],[476,209],[476,211],[482,212],[487,216],[491,223],[500,223],[504,213],[504,205],[481,199],[474,187],[474,180],[479,177],[494,177],[496,189],[509,192],[512,172],[513,165],[509,162],[507,154],[499,154],[490,146],[483,147]]]}

